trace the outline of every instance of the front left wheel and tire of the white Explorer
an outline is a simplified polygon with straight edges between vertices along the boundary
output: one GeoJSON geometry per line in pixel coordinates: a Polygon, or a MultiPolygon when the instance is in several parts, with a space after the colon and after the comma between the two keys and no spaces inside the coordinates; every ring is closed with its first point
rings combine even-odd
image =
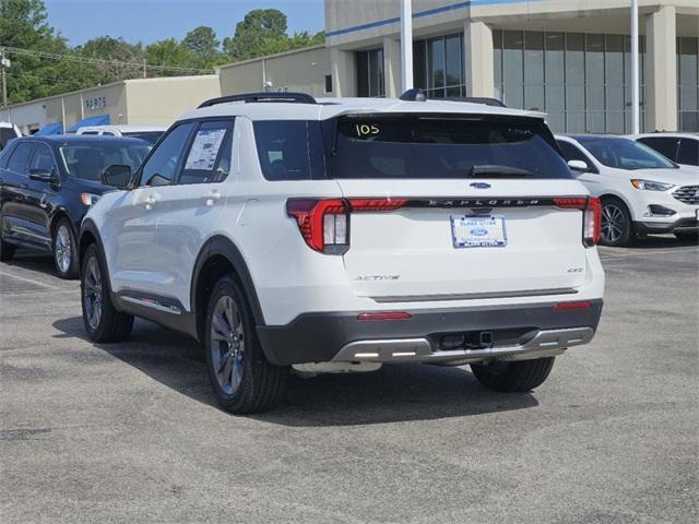
{"type": "Polygon", "coordinates": [[[133,317],[117,311],[109,296],[107,273],[97,246],[85,251],[80,279],[83,323],[90,338],[95,342],[121,342],[133,327],[133,317]],[[96,308],[99,308],[98,310],[96,308]]]}

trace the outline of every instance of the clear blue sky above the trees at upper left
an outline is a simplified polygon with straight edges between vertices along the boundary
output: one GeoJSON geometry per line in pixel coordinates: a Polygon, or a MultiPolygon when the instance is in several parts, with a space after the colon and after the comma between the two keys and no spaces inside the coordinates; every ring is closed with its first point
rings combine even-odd
{"type": "Polygon", "coordinates": [[[324,27],[323,0],[44,0],[49,23],[71,46],[96,36],[151,44],[181,39],[199,26],[213,27],[223,40],[253,9],[279,9],[288,33],[317,33],[324,27]]]}

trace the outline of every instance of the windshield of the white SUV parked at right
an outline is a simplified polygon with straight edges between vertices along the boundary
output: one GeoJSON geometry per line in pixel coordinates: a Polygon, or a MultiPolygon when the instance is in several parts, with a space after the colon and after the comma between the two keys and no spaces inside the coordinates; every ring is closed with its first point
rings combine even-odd
{"type": "Polygon", "coordinates": [[[617,136],[576,136],[597,160],[616,169],[673,169],[677,166],[660,153],[617,136]]]}

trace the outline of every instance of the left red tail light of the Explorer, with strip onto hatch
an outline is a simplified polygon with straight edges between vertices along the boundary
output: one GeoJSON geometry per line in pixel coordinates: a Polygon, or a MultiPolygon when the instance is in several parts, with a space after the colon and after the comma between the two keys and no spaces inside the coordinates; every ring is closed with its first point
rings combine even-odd
{"type": "Polygon", "coordinates": [[[309,248],[327,254],[344,254],[350,249],[350,214],[395,211],[404,199],[289,199],[286,214],[296,219],[309,248]]]}

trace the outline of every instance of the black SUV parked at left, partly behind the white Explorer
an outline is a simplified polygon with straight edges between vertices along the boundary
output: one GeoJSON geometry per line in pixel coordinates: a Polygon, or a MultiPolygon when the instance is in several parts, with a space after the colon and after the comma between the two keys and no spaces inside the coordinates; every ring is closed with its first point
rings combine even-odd
{"type": "Polygon", "coordinates": [[[150,150],[135,139],[25,136],[0,156],[0,260],[17,246],[54,253],[61,278],[78,275],[76,239],[91,205],[107,191],[106,166],[137,168],[150,150]]]}

